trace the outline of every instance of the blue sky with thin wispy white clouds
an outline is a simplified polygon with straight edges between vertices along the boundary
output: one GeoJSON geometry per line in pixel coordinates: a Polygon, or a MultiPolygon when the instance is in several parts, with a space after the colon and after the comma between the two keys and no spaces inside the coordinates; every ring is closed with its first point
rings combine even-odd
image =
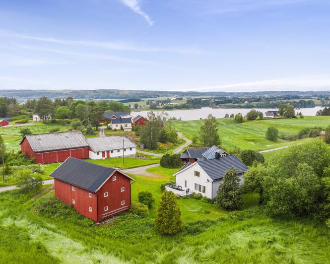
{"type": "Polygon", "coordinates": [[[330,90],[329,0],[1,0],[1,89],[330,90]]]}

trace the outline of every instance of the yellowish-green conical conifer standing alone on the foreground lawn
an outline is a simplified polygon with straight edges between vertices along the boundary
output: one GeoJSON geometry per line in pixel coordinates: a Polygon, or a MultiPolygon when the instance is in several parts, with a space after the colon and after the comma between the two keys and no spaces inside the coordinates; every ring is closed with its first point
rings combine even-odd
{"type": "Polygon", "coordinates": [[[163,234],[172,235],[181,230],[181,209],[177,203],[177,197],[172,192],[163,191],[155,224],[159,232],[163,234]]]}

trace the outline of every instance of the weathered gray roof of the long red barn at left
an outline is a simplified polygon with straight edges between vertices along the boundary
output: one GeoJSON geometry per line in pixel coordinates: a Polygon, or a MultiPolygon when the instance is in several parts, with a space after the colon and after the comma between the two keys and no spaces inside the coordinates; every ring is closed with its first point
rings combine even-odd
{"type": "MultiPolygon", "coordinates": [[[[81,132],[61,132],[47,134],[30,134],[24,138],[30,143],[33,151],[59,150],[76,147],[88,147],[88,142],[81,132]]],[[[23,142],[22,139],[21,143],[23,142]]]]}

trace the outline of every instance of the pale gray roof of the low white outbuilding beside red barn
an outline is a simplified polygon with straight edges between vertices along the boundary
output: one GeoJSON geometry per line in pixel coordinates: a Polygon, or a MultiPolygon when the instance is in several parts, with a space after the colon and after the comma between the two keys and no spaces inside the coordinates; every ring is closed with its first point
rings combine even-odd
{"type": "Polygon", "coordinates": [[[98,151],[108,151],[114,149],[123,148],[123,139],[124,147],[136,147],[136,144],[127,136],[102,136],[102,137],[91,137],[87,138],[87,142],[90,148],[94,152],[98,151]]]}

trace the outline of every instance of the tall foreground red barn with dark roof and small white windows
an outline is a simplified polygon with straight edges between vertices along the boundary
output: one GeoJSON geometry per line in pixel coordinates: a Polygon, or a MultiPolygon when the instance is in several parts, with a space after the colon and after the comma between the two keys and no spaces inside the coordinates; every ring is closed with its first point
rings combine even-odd
{"type": "Polygon", "coordinates": [[[131,207],[131,177],[114,168],[67,158],[51,174],[55,197],[95,222],[131,207]]]}

